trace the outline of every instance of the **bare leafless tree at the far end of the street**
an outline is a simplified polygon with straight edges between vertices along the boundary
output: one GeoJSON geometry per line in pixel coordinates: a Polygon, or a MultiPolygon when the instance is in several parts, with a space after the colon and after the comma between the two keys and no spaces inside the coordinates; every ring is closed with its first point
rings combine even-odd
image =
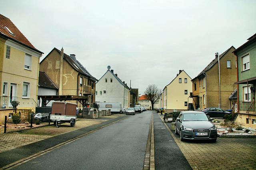
{"type": "Polygon", "coordinates": [[[154,109],[154,104],[159,102],[160,94],[162,91],[156,86],[156,84],[148,85],[144,95],[146,100],[151,102],[151,108],[154,109]]]}

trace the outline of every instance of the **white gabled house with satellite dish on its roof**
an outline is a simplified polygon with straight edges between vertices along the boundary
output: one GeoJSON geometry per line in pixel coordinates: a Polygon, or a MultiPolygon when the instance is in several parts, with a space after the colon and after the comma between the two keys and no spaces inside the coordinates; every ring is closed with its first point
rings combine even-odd
{"type": "Polygon", "coordinates": [[[107,72],[96,82],[96,102],[120,102],[123,108],[130,106],[130,88],[114,74],[114,70],[107,72]]]}

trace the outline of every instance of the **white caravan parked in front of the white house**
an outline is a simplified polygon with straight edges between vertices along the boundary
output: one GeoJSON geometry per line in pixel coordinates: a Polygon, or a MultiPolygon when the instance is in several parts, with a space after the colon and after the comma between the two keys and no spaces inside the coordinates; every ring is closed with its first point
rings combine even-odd
{"type": "Polygon", "coordinates": [[[96,102],[99,110],[111,109],[111,113],[123,113],[122,104],[119,102],[96,102]]]}

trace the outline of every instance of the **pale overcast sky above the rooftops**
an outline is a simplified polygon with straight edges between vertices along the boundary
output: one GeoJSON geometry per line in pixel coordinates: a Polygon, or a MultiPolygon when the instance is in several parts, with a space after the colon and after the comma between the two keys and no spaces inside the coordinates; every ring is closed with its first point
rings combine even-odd
{"type": "Polygon", "coordinates": [[[97,79],[110,65],[143,94],[184,70],[195,78],[215,57],[256,33],[256,0],[0,0],[34,47],[56,47],[97,79]]]}

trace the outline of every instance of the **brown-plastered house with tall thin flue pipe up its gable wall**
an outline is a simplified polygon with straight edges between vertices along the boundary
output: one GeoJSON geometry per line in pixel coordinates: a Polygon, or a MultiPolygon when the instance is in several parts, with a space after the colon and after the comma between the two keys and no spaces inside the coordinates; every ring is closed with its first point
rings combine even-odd
{"type": "Polygon", "coordinates": [[[192,79],[195,109],[219,107],[231,109],[230,95],[236,90],[236,56],[232,46],[224,53],[215,54],[214,60],[192,79]]]}

